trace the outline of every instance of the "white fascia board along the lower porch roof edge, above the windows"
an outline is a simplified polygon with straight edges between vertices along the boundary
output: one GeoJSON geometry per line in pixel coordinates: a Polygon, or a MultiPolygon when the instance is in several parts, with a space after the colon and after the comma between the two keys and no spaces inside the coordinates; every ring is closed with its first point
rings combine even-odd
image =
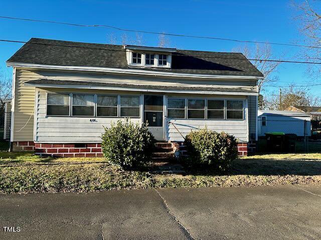
{"type": "Polygon", "coordinates": [[[34,87],[56,87],[56,88],[77,88],[77,89],[97,89],[97,90],[118,90],[118,91],[140,91],[140,92],[169,92],[169,93],[192,93],[192,94],[213,94],[213,95],[244,95],[257,96],[257,92],[236,92],[236,91],[204,91],[204,90],[177,90],[177,89],[153,89],[137,87],[117,87],[117,86],[94,86],[94,85],[74,85],[74,84],[33,84],[25,82],[25,86],[34,87]]]}

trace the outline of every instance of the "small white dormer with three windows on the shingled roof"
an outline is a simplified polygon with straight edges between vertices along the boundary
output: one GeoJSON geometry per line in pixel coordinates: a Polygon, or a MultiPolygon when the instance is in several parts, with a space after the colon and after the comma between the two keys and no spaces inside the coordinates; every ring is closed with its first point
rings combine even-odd
{"type": "Polygon", "coordinates": [[[176,48],[124,45],[128,66],[171,68],[176,48]]]}

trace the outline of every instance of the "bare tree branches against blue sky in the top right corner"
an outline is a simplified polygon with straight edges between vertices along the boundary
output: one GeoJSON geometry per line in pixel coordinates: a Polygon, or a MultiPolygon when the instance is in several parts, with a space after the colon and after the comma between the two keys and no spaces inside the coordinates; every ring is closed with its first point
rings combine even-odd
{"type": "MultiPolygon", "coordinates": [[[[316,10],[320,7],[320,0],[304,0],[297,3],[292,0],[296,15],[294,19],[299,23],[299,31],[303,36],[303,43],[311,47],[305,47],[300,51],[300,57],[311,62],[321,61],[321,13],[316,10]]],[[[308,73],[312,77],[318,77],[321,73],[319,64],[309,64],[308,73]]]]}

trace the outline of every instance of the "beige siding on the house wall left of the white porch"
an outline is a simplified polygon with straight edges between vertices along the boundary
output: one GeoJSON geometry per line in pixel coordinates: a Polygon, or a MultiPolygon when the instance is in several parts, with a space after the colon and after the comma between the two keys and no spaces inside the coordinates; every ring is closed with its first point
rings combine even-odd
{"type": "Polygon", "coordinates": [[[39,79],[39,76],[35,72],[22,69],[16,70],[16,89],[14,96],[15,119],[12,141],[33,140],[35,87],[24,85],[26,81],[33,79],[39,79]]]}

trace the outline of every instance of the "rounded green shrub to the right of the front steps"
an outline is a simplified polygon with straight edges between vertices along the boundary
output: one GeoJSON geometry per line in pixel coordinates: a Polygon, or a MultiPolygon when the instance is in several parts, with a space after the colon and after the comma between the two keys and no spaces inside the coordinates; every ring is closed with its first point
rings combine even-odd
{"type": "Polygon", "coordinates": [[[186,136],[185,145],[188,161],[193,166],[211,166],[225,171],[237,157],[237,139],[225,132],[207,128],[191,131],[186,136]]]}

